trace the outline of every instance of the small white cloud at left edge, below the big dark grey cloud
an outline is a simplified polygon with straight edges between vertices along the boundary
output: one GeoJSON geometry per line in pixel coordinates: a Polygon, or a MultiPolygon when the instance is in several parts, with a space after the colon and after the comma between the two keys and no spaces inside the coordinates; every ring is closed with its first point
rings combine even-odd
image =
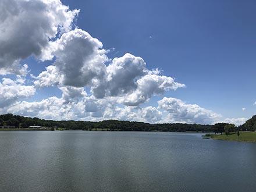
{"type": "Polygon", "coordinates": [[[3,78],[0,83],[0,108],[15,104],[19,99],[30,97],[35,93],[34,86],[25,86],[24,79],[3,78]]]}

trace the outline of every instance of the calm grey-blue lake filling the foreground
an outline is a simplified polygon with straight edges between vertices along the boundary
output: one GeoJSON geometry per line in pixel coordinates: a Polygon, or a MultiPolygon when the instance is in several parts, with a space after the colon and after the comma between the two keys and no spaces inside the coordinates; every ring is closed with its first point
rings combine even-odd
{"type": "Polygon", "coordinates": [[[256,144],[197,133],[0,131],[0,191],[255,191],[256,144]]]}

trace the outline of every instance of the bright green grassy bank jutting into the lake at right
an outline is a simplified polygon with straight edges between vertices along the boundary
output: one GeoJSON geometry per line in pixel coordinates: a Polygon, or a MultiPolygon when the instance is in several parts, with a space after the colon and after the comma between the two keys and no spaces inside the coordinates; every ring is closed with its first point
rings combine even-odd
{"type": "Polygon", "coordinates": [[[228,136],[226,136],[225,133],[223,133],[223,135],[211,134],[210,137],[216,140],[242,141],[242,142],[256,143],[256,132],[240,131],[239,137],[237,136],[236,133],[230,133],[228,136]]]}

